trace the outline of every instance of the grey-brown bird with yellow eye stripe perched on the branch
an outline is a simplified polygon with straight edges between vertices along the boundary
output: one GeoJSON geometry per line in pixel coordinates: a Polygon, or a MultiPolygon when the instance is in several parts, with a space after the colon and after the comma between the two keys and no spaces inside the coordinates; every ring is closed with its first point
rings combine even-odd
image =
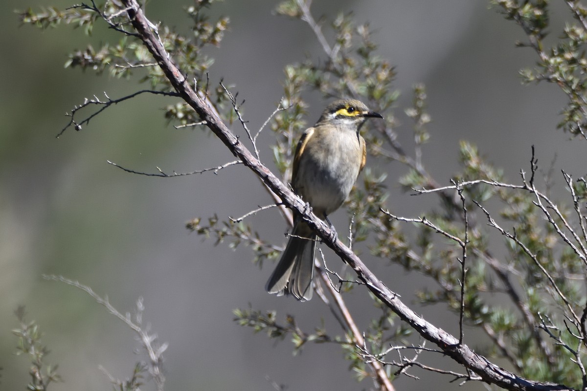
{"type": "MultiPolygon", "coordinates": [[[[326,106],[318,122],[303,132],[296,147],[292,189],[332,230],[328,216],[345,202],[365,166],[367,150],[359,131],[369,118],[383,116],[359,100],[335,100],[326,106]]],[[[265,290],[310,300],[317,241],[302,215],[295,213],[288,243],[265,290]]]]}

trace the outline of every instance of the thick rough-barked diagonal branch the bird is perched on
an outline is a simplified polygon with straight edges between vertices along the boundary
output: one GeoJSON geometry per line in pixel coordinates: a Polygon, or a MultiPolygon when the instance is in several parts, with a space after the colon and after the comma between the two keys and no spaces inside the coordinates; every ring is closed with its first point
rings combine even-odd
{"type": "Polygon", "coordinates": [[[466,344],[459,343],[458,338],[455,338],[443,329],[426,321],[426,319],[420,317],[420,315],[417,315],[407,307],[407,305],[405,305],[395,293],[387,288],[385,284],[383,284],[383,282],[380,281],[379,278],[377,278],[375,274],[365,266],[365,264],[363,264],[352,250],[346,247],[340,242],[340,240],[332,240],[333,236],[332,232],[330,232],[329,226],[322,222],[322,220],[318,219],[313,213],[306,210],[306,205],[302,199],[290,191],[288,187],[279,180],[279,178],[266,168],[265,165],[261,164],[251,151],[242,144],[239,138],[228,129],[205,95],[194,90],[190,86],[186,77],[181,74],[180,69],[177,68],[173,63],[173,60],[164,50],[157,35],[151,30],[150,26],[152,26],[152,23],[147,20],[137,1],[122,0],[122,2],[128,9],[127,13],[133,28],[139,34],[140,39],[143,40],[144,45],[157,61],[158,66],[161,67],[161,70],[163,70],[164,74],[166,74],[171,84],[185,102],[195,110],[201,120],[206,121],[206,126],[210,128],[218,138],[220,138],[235,157],[240,159],[245,166],[259,176],[271,191],[281,198],[282,203],[288,208],[301,213],[304,219],[308,222],[308,225],[311,226],[316,234],[322,239],[323,243],[335,251],[343,261],[349,264],[357,274],[357,277],[367,285],[367,288],[404,322],[407,322],[423,338],[437,345],[438,348],[454,361],[479,375],[484,382],[508,390],[571,390],[571,388],[564,385],[524,379],[508,370],[500,368],[484,356],[475,353],[466,344]]]}

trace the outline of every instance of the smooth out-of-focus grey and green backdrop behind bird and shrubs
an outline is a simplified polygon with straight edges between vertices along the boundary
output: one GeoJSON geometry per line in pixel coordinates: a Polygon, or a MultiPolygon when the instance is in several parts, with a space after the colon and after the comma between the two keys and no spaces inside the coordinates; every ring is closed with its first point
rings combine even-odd
{"type": "MultiPolygon", "coordinates": [[[[85,97],[103,97],[106,91],[116,98],[141,88],[132,80],[63,68],[68,53],[88,42],[95,47],[116,42],[113,32],[96,27],[88,38],[68,26],[45,31],[19,27],[13,12],[29,5],[72,4],[6,0],[0,5],[0,389],[24,389],[29,381],[29,360],[14,356],[17,340],[11,334],[18,326],[12,312],[21,304],[26,305],[28,319],[35,319],[45,333],[43,343],[51,350],[46,362],[59,363],[65,383],[53,389],[111,389],[98,366],[124,379],[139,359],[133,353],[139,344],[126,325],[85,293],[43,280],[43,273],[90,285],[122,312],[133,311],[137,298],[143,297],[145,321],[169,344],[164,353],[167,390],[272,390],[268,378],[289,390],[369,389],[368,380],[352,379],[338,346],[308,344],[294,356],[288,340],[275,344],[232,321],[232,310],[250,304],[262,310],[275,308],[280,319],[293,314],[308,331],[323,318],[329,331],[340,332],[317,298],[302,304],[266,294],[263,287],[273,265],[259,270],[247,247],[215,247],[214,240],[203,242],[185,229],[193,217],[218,213],[227,219],[270,203],[247,169],[151,178],[107,164],[110,160],[137,171],[155,172],[160,167],[188,172],[233,159],[207,132],[167,125],[158,108],[170,101],[141,96],[110,108],[80,132],[69,129],[55,138],[68,121],[63,113],[85,97]]],[[[182,11],[187,5],[188,0],[151,0],[147,16],[188,35],[190,25],[182,11]]],[[[275,5],[268,0],[227,0],[210,9],[213,16],[231,18],[220,49],[210,50],[216,59],[211,82],[224,77],[237,86],[239,97],[247,100],[244,114],[251,129],[260,127],[278,103],[286,64],[306,56],[323,58],[308,26],[275,16],[275,5]]],[[[403,110],[410,106],[411,86],[426,84],[433,122],[424,163],[438,182],[448,184],[456,171],[458,141],[463,139],[504,168],[510,181],[518,181],[521,168],[528,170],[532,144],[545,170],[556,157],[557,185],[562,184],[556,176],[561,168],[573,176],[585,174],[585,161],[578,158],[584,157],[584,148],[556,130],[564,95],[553,85],[521,86],[518,70],[534,64],[534,52],[514,46],[524,35],[488,2],[315,0],[311,9],[316,18],[325,15],[332,20],[340,11],[353,11],[357,22],[370,22],[379,55],[396,66],[396,87],[402,96],[394,113],[402,123],[400,141],[408,149],[413,141],[403,110]]],[[[554,9],[551,17],[556,37],[570,15],[554,9]]],[[[311,104],[308,123],[313,124],[327,102],[311,91],[306,98],[311,104]]],[[[261,158],[273,166],[272,136],[263,135],[261,158]]],[[[436,205],[432,196],[400,191],[397,178],[405,174],[403,166],[371,167],[389,175],[394,214],[414,217],[436,205]]],[[[345,213],[336,213],[334,222],[341,232],[347,224],[345,213]]],[[[249,223],[265,239],[285,243],[287,227],[275,209],[251,217],[249,223]]],[[[407,304],[415,288],[430,284],[359,250],[407,304]]],[[[326,256],[331,265],[337,262],[328,251],[326,256]]],[[[363,290],[349,295],[360,327],[373,313],[373,308],[362,305],[365,300],[363,290]]],[[[456,318],[446,308],[416,311],[448,332],[458,331],[456,318]]],[[[465,342],[472,346],[487,343],[470,335],[465,342]]],[[[458,369],[444,358],[426,360],[458,369]]],[[[413,373],[422,380],[402,377],[394,382],[398,390],[455,387],[446,376],[413,373]]],[[[485,389],[481,383],[463,388],[485,389]]]]}

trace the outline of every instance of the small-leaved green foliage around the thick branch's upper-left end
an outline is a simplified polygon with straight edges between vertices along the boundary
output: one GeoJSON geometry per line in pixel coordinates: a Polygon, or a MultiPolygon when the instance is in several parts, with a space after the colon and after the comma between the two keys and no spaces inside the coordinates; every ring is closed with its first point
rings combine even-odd
{"type": "MultiPolygon", "coordinates": [[[[205,14],[205,9],[212,3],[214,0],[194,1],[192,6],[184,9],[185,14],[193,21],[191,37],[183,36],[167,26],[158,28],[157,33],[167,53],[185,72],[186,78],[194,81],[198,89],[215,103],[218,113],[232,123],[234,111],[224,89],[220,86],[208,89],[207,72],[214,64],[214,59],[206,55],[203,49],[208,46],[220,46],[230,23],[227,17],[212,21],[205,14]]],[[[119,2],[107,1],[100,5],[91,2],[75,5],[63,11],[51,7],[41,8],[37,12],[28,9],[18,13],[23,24],[48,28],[65,23],[74,27],[83,26],[87,34],[91,34],[96,22],[105,20],[109,28],[122,32],[123,38],[114,45],[106,42],[100,47],[88,45],[85,49],[74,50],[69,54],[65,67],[90,70],[97,74],[106,72],[109,76],[126,79],[137,76],[140,83],[149,84],[153,90],[173,91],[167,77],[154,62],[147,48],[136,34],[130,32],[126,12],[119,2]]],[[[164,108],[164,113],[171,123],[178,125],[185,126],[200,121],[191,107],[181,103],[168,105],[164,108]]]]}

